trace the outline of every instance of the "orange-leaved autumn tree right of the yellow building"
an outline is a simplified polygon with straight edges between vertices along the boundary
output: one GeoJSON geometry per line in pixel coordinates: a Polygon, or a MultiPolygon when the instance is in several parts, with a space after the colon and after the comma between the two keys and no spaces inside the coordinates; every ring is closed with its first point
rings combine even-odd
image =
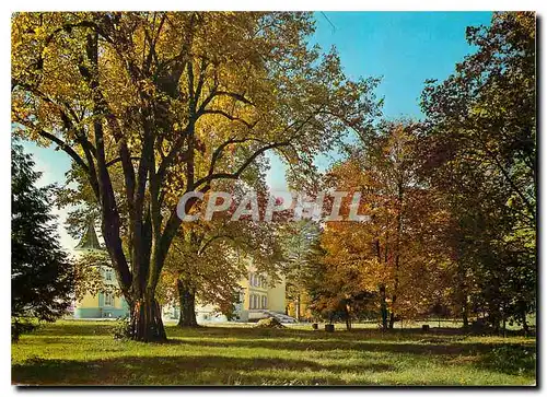
{"type": "MultiPolygon", "coordinates": [[[[417,122],[382,122],[328,176],[338,191],[361,192],[358,208],[370,219],[326,223],[326,280],[347,299],[376,296],[384,329],[393,328],[397,316],[422,314],[443,285],[444,217],[418,176],[420,131],[417,122]]],[[[350,207],[344,200],[341,213],[350,207]]]]}

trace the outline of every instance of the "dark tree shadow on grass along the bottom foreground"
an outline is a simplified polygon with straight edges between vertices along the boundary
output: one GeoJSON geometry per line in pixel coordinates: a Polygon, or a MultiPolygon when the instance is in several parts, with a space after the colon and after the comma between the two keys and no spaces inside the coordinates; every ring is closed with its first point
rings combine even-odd
{"type": "Polygon", "coordinates": [[[123,357],[93,361],[31,359],[12,366],[12,383],[48,386],[345,385],[342,373],[394,370],[382,363],[322,365],[305,360],[221,355],[123,357]],[[276,371],[280,371],[279,375],[276,371]]]}

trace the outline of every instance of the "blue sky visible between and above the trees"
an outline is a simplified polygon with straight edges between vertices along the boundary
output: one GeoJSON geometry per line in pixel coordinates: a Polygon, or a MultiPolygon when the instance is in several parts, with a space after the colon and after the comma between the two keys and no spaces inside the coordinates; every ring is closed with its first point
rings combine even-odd
{"type": "MultiPolygon", "coordinates": [[[[376,96],[384,97],[384,117],[420,118],[423,82],[443,80],[454,71],[455,63],[473,51],[465,40],[466,26],[488,25],[491,13],[317,12],[315,16],[312,42],[327,50],[335,45],[348,77],[382,78],[376,96]]],[[[25,147],[34,154],[36,167],[44,172],[43,184],[63,182],[70,166],[65,153],[33,143],[25,147]]],[[[275,190],[286,189],[283,164],[275,156],[270,160],[268,184],[275,190]]],[[[329,161],[329,156],[322,156],[317,164],[324,168],[329,161]]],[[[62,220],[63,211],[58,213],[62,220]]],[[[62,244],[72,248],[74,242],[63,229],[59,232],[62,244]]]]}

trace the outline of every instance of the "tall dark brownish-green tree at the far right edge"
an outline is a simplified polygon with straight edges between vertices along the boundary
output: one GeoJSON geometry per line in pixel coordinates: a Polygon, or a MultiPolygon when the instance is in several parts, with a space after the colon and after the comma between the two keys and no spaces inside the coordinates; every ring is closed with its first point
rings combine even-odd
{"type": "Polygon", "coordinates": [[[501,12],[468,27],[476,52],[422,95],[430,182],[454,220],[447,246],[457,264],[464,323],[488,315],[497,328],[526,328],[536,285],[536,21],[501,12]]]}

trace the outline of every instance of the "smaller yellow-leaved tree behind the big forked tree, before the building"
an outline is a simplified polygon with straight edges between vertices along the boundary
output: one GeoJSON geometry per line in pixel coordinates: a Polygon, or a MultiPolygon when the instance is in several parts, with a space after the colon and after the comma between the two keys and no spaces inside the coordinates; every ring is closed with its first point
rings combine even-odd
{"type": "MultiPolygon", "coordinates": [[[[267,202],[265,183],[254,180],[254,185],[261,188],[257,202],[264,213],[267,202]]],[[[257,191],[245,183],[237,183],[231,189],[234,205],[216,213],[211,221],[201,220],[181,227],[167,255],[162,290],[171,296],[178,294],[178,325],[182,327],[197,325],[196,299],[230,316],[240,296],[240,282],[248,277],[249,265],[257,272],[267,273],[272,282],[279,279],[282,254],[279,223],[253,222],[243,217],[232,221],[236,203],[246,194],[257,191]]],[[[198,207],[205,210],[206,206],[198,207]]]]}

